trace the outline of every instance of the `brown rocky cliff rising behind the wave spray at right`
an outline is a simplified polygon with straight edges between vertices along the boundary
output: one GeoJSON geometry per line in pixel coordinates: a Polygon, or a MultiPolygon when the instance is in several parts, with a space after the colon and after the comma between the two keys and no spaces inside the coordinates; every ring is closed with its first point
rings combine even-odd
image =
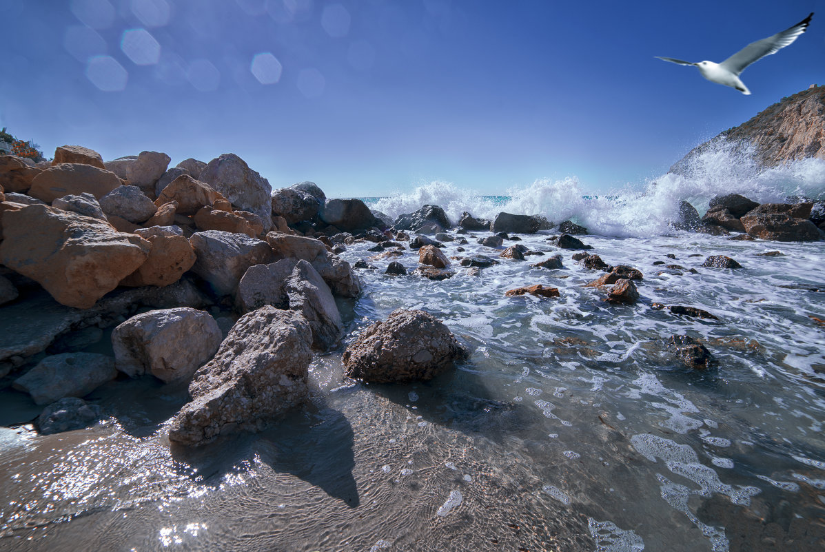
{"type": "Polygon", "coordinates": [[[804,158],[825,159],[825,87],[810,87],[767,107],[742,125],[700,144],[670,168],[685,172],[687,163],[720,140],[752,144],[764,167],[804,158]]]}

